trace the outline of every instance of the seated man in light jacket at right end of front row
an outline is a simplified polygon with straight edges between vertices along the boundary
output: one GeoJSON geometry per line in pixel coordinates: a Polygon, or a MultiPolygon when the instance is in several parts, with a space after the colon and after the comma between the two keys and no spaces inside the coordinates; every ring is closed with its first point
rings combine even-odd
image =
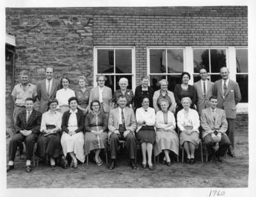
{"type": "Polygon", "coordinates": [[[201,126],[202,138],[209,152],[209,161],[216,156],[218,161],[222,161],[230,145],[230,140],[226,135],[228,123],[226,120],[225,111],[216,108],[218,100],[216,96],[211,96],[210,107],[202,110],[201,126]]]}

